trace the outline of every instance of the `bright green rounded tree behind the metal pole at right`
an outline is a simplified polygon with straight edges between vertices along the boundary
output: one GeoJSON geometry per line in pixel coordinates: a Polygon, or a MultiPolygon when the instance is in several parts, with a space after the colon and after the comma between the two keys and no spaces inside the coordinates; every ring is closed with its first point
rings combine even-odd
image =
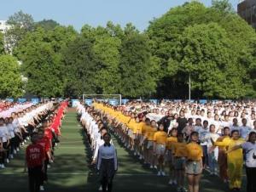
{"type": "Polygon", "coordinates": [[[172,65],[191,75],[192,89],[207,98],[239,99],[245,95],[246,70],[237,63],[226,31],[216,23],[189,26],[177,47],[172,65]]]}

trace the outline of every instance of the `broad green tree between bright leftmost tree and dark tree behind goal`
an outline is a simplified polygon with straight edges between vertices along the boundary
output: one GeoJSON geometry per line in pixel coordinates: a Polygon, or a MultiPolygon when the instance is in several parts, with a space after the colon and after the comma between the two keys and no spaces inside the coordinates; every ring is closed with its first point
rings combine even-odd
{"type": "Polygon", "coordinates": [[[58,26],[53,31],[37,28],[20,41],[14,54],[22,61],[26,92],[40,97],[63,95],[61,51],[76,35],[70,27],[58,26]]]}

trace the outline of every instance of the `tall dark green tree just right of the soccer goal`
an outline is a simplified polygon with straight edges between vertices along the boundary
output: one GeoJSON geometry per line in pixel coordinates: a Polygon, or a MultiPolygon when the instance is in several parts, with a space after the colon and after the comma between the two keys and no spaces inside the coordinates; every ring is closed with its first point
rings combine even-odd
{"type": "Polygon", "coordinates": [[[147,97],[155,92],[154,62],[148,37],[135,32],[127,33],[122,42],[119,73],[120,93],[131,98],[147,97]]]}

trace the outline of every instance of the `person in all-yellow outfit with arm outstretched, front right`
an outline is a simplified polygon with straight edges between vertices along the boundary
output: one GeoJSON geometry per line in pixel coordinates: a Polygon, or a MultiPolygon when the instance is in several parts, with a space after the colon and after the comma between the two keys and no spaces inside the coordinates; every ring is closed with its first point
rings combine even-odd
{"type": "MultiPolygon", "coordinates": [[[[231,132],[231,138],[224,138],[222,142],[213,142],[216,146],[226,147],[228,150],[234,146],[243,144],[245,141],[240,138],[239,131],[233,130],[231,132]]],[[[228,153],[228,176],[230,178],[230,189],[240,190],[241,189],[241,176],[242,176],[242,165],[243,155],[242,150],[227,151],[228,153]]]]}

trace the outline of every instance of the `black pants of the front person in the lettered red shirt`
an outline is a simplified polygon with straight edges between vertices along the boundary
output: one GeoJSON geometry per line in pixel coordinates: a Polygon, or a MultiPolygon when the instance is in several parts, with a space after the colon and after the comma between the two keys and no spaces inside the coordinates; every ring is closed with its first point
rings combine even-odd
{"type": "Polygon", "coordinates": [[[42,166],[28,168],[29,191],[39,192],[40,184],[42,182],[43,172],[42,166]]]}

